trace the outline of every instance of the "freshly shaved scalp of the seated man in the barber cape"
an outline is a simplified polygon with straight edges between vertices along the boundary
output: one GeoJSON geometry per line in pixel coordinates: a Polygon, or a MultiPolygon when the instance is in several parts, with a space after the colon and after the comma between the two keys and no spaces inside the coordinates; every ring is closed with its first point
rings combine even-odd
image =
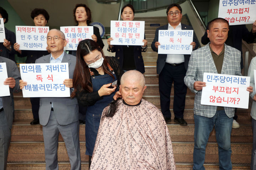
{"type": "Polygon", "coordinates": [[[125,80],[139,82],[140,86],[145,86],[145,78],[143,74],[137,70],[130,70],[125,72],[121,77],[121,85],[124,83],[125,80]]]}

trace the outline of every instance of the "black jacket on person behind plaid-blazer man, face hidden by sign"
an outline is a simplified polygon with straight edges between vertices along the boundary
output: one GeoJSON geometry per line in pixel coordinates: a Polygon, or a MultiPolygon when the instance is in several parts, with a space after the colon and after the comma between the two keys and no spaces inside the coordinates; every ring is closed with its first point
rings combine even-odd
{"type": "MultiPolygon", "coordinates": [[[[245,25],[233,25],[229,26],[229,29],[232,29],[232,42],[233,44],[227,44],[230,45],[236,49],[238,49],[241,52],[241,70],[244,68],[244,62],[242,59],[242,40],[244,40],[247,43],[250,43],[254,40],[256,37],[256,34],[253,34],[252,32],[249,32],[245,25]]],[[[208,24],[206,29],[208,29],[208,24]]],[[[230,39],[230,37],[228,37],[230,39]]],[[[226,40],[226,42],[228,41],[226,40]]],[[[206,45],[210,42],[209,38],[207,37],[207,31],[204,33],[203,37],[201,38],[201,43],[206,45]]]]}

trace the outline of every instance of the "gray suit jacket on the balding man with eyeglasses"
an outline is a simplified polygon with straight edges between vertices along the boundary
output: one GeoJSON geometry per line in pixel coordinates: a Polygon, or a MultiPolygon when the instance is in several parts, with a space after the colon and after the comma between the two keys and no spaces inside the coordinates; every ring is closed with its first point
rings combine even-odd
{"type": "MultiPolygon", "coordinates": [[[[76,65],[76,57],[64,53],[62,62],[68,62],[69,78],[73,78],[73,73],[76,65]]],[[[36,63],[50,63],[50,54],[40,57],[36,60],[36,63]]],[[[39,103],[39,120],[41,125],[47,125],[50,117],[52,103],[55,117],[60,125],[64,126],[78,121],[78,103],[76,98],[72,99],[70,97],[41,97],[39,103]]]]}

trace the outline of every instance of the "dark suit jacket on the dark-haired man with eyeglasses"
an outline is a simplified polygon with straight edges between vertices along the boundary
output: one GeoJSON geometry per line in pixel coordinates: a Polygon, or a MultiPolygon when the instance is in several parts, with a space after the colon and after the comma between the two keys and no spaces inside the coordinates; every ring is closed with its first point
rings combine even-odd
{"type": "MultiPolygon", "coordinates": [[[[158,30],[167,30],[167,29],[168,29],[168,24],[156,29],[155,38],[151,44],[151,48],[153,51],[158,52],[158,49],[156,49],[156,47],[155,47],[155,42],[158,42],[158,30]]],[[[181,24],[181,29],[182,30],[193,30],[193,28],[191,26],[187,26],[185,24],[181,24]]],[[[193,33],[193,42],[196,43],[196,47],[194,48],[194,50],[196,50],[198,48],[198,42],[195,38],[195,33],[193,33]]],[[[167,57],[167,54],[158,54],[158,60],[156,61],[156,71],[158,74],[160,74],[162,69],[164,68],[166,57],[167,57]]],[[[185,60],[184,64],[185,64],[186,70],[188,68],[189,59],[190,59],[190,54],[184,54],[184,60],[185,60]]]]}

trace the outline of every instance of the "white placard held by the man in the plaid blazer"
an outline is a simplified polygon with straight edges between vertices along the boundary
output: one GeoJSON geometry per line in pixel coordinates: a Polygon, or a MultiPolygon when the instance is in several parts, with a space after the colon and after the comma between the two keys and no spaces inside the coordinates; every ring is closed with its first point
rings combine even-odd
{"type": "Polygon", "coordinates": [[[204,73],[201,104],[248,109],[250,77],[204,73]]]}

